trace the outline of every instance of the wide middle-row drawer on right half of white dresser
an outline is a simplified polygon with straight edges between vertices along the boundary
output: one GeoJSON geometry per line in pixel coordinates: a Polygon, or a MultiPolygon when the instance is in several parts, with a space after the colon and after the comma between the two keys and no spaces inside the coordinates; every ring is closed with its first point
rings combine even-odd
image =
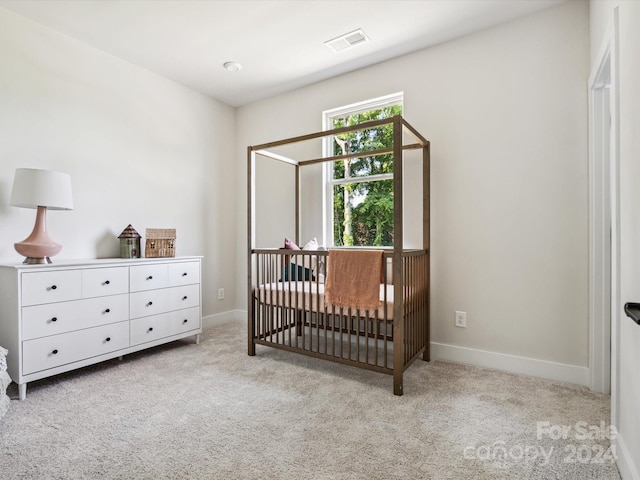
{"type": "Polygon", "coordinates": [[[136,292],[131,294],[130,301],[131,318],[196,307],[200,305],[200,285],[136,292]]]}

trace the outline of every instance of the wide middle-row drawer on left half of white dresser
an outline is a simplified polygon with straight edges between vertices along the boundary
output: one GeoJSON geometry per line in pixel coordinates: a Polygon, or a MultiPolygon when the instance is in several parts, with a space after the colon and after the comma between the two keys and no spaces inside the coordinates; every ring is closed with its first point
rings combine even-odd
{"type": "Polygon", "coordinates": [[[22,307],[22,338],[46,337],[129,319],[129,295],[22,307]]]}

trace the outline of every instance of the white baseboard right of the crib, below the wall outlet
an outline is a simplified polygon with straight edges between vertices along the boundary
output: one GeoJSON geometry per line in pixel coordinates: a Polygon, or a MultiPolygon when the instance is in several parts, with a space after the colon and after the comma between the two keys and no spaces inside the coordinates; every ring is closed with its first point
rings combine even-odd
{"type": "Polygon", "coordinates": [[[589,386],[589,368],[431,342],[431,358],[589,386]]]}

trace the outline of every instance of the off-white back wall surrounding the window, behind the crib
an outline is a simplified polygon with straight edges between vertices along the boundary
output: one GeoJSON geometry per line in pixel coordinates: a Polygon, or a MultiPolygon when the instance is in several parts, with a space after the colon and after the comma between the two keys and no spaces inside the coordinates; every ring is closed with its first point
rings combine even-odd
{"type": "MultiPolygon", "coordinates": [[[[432,142],[432,340],[568,365],[586,382],[588,25],[588,4],[568,2],[241,107],[239,158],[320,130],[323,110],[403,91],[405,118],[432,142]]],[[[242,162],[239,216],[244,177],[242,162]]]]}

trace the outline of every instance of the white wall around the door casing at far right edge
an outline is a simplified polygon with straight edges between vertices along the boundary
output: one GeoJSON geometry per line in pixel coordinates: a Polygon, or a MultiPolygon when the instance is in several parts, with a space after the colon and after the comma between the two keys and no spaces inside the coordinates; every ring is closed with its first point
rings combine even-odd
{"type": "MultiPolygon", "coordinates": [[[[605,35],[612,31],[618,8],[618,100],[620,135],[620,297],[622,303],[640,302],[640,2],[591,1],[591,62],[605,35]]],[[[619,306],[622,310],[622,305],[619,306]]],[[[616,411],[618,466],[624,480],[640,479],[640,326],[621,312],[616,339],[618,378],[612,385],[616,411]]]]}

